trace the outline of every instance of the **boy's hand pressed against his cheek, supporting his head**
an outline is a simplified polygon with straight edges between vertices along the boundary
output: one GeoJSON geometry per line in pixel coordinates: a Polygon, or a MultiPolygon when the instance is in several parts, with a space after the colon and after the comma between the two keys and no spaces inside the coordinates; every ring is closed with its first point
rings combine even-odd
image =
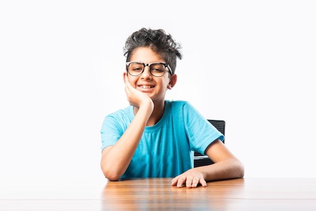
{"type": "Polygon", "coordinates": [[[125,94],[130,105],[140,108],[142,103],[148,103],[148,102],[150,102],[150,104],[152,103],[152,100],[147,94],[137,90],[129,83],[127,74],[124,75],[124,79],[125,79],[124,80],[125,94]]]}

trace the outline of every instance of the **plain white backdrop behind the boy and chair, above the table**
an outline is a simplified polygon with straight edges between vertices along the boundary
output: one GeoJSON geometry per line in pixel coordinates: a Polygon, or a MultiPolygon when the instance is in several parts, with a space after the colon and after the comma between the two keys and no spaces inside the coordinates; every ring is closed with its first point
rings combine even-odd
{"type": "Polygon", "coordinates": [[[183,45],[168,99],[226,121],[245,177],[316,177],[314,1],[1,1],[0,179],[100,179],[103,118],[125,108],[123,46],[183,45]]]}

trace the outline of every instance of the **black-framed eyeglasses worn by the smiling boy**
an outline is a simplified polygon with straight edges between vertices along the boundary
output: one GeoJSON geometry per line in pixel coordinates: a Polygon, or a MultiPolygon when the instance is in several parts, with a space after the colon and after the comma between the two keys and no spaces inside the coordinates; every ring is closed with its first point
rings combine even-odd
{"type": "Polygon", "coordinates": [[[139,76],[144,72],[145,66],[149,67],[149,72],[155,77],[162,77],[165,75],[166,68],[169,69],[170,74],[172,75],[172,70],[169,65],[160,62],[154,62],[149,64],[144,64],[141,62],[127,62],[126,69],[127,72],[132,76],[139,76]]]}

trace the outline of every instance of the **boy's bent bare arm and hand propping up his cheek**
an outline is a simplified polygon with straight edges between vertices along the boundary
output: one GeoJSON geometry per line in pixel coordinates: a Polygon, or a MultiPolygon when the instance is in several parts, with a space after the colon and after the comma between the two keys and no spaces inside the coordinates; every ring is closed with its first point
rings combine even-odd
{"type": "Polygon", "coordinates": [[[125,92],[131,105],[138,108],[134,119],[113,145],[102,150],[101,170],[109,180],[118,180],[130,164],[147,121],[153,111],[153,102],[145,93],[131,86],[125,76],[125,92]]]}

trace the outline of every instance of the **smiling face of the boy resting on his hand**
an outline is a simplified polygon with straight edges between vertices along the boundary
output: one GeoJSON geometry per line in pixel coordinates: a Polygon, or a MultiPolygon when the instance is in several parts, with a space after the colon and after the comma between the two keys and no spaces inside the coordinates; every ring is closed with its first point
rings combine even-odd
{"type": "MultiPolygon", "coordinates": [[[[131,62],[142,62],[145,64],[153,62],[166,63],[164,59],[152,51],[150,47],[138,47],[134,50],[131,62]]],[[[144,72],[139,76],[128,75],[128,81],[137,90],[146,93],[153,102],[164,101],[167,89],[171,89],[177,82],[177,76],[170,77],[168,68],[162,77],[155,77],[150,74],[149,67],[145,66],[144,72]]]]}

